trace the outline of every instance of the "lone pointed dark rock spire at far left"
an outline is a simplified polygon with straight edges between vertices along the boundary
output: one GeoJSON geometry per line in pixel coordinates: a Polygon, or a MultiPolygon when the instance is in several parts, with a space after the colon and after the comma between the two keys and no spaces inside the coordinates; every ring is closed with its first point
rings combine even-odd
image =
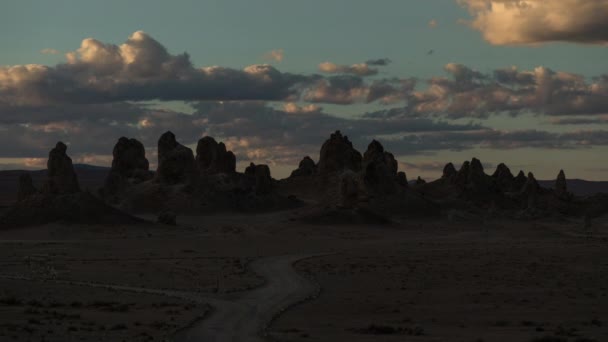
{"type": "Polygon", "coordinates": [[[80,191],[72,158],[66,154],[67,149],[68,147],[60,141],[49,153],[48,179],[43,190],[45,193],[73,194],[80,191]]]}

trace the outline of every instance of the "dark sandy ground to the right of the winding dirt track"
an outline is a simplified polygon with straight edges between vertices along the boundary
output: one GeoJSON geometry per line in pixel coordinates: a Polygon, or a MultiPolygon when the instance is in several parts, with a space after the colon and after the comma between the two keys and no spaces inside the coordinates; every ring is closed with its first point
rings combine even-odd
{"type": "Polygon", "coordinates": [[[423,224],[298,263],[320,297],[280,341],[607,341],[608,239],[574,224],[423,224]]]}

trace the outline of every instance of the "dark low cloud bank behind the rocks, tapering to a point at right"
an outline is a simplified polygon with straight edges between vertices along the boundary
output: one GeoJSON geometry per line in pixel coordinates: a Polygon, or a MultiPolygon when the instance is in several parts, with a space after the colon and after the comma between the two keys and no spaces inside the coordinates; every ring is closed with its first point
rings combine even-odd
{"type": "Polygon", "coordinates": [[[172,130],[185,144],[194,144],[204,135],[224,139],[240,160],[293,162],[304,154],[317,153],[320,144],[337,129],[349,132],[353,141],[364,147],[375,136],[481,127],[425,118],[346,119],[318,107],[294,105],[285,110],[263,101],[199,102],[193,106],[193,114],[125,103],[30,107],[25,113],[11,113],[0,120],[0,158],[44,158],[58,140],[68,143],[75,156],[108,155],[120,136],[137,138],[153,150],[158,137],[172,130]]]}

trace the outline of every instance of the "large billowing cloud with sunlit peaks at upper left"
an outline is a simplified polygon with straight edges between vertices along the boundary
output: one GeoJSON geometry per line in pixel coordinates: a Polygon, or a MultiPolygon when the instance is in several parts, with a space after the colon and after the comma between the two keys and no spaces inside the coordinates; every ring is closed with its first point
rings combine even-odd
{"type": "Polygon", "coordinates": [[[121,45],[87,38],[66,58],[66,63],[53,67],[0,67],[0,102],[49,105],[153,99],[284,100],[296,95],[296,87],[310,78],[282,73],[265,64],[242,70],[196,68],[188,54],[172,55],[142,31],[133,33],[121,45]]]}

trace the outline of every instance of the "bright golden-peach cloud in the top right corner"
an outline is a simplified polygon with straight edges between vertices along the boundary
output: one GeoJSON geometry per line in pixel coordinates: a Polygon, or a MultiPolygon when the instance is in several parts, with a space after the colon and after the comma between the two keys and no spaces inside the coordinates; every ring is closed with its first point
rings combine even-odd
{"type": "Polygon", "coordinates": [[[608,0],[457,0],[494,45],[608,43],[608,0]]]}

